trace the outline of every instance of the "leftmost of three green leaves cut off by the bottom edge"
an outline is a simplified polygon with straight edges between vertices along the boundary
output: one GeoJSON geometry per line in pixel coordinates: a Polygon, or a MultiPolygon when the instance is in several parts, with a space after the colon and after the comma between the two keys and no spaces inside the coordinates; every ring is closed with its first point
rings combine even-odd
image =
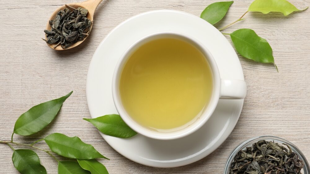
{"type": "Polygon", "coordinates": [[[29,149],[15,150],[12,155],[14,167],[22,174],[46,173],[46,169],[40,164],[38,155],[29,149]]]}

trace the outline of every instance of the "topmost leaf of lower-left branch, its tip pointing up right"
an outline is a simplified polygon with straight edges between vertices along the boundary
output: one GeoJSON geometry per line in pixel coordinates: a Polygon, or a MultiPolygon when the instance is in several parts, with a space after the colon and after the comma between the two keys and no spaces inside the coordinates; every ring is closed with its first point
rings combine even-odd
{"type": "Polygon", "coordinates": [[[15,122],[14,133],[19,135],[32,135],[45,128],[54,120],[64,101],[72,94],[59,99],[47,101],[30,108],[15,122]]]}

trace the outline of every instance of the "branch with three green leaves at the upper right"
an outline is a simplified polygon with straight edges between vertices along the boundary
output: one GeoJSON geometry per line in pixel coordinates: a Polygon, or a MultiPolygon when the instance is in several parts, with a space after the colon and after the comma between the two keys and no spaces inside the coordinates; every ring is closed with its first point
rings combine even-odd
{"type": "MultiPolygon", "coordinates": [[[[224,18],[232,3],[233,1],[215,2],[210,4],[204,11],[202,11],[200,17],[214,25],[224,18]]],[[[304,10],[297,9],[294,5],[286,0],[255,0],[251,3],[248,11],[246,11],[239,19],[220,28],[219,31],[222,31],[241,20],[244,20],[243,17],[250,11],[257,11],[263,14],[268,14],[270,12],[281,12],[283,15],[287,16],[294,11],[304,10]]],[[[267,40],[259,37],[254,30],[243,28],[232,33],[223,34],[230,35],[233,45],[235,45],[237,52],[240,53],[241,56],[251,59],[255,62],[272,63],[278,71],[278,68],[274,63],[274,57],[272,56],[271,46],[267,40]]]]}

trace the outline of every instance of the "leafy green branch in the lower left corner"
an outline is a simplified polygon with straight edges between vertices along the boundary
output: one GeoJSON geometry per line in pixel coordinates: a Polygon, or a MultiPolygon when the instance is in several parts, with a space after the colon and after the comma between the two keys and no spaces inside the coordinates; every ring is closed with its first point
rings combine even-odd
{"type": "Polygon", "coordinates": [[[37,153],[30,149],[15,149],[12,145],[25,146],[46,152],[58,162],[59,174],[107,174],[104,165],[96,158],[108,159],[101,155],[92,145],[82,142],[78,137],[68,137],[64,134],[53,133],[45,138],[39,139],[31,144],[24,144],[13,141],[13,135],[19,134],[29,136],[45,128],[54,120],[64,101],[72,94],[47,101],[30,108],[23,113],[15,122],[11,141],[0,141],[7,144],[14,152],[12,161],[14,167],[20,173],[46,174],[46,169],[41,165],[37,153]],[[45,141],[50,150],[44,150],[34,146],[37,142],[45,141]],[[53,153],[61,155],[69,160],[61,161],[53,153]]]}

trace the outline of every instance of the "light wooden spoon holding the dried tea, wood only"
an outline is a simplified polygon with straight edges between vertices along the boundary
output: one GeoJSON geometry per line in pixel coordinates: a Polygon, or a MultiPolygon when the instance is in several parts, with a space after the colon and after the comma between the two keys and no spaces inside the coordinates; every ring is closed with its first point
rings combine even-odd
{"type": "MultiPolygon", "coordinates": [[[[87,18],[91,21],[94,20],[94,13],[95,13],[95,10],[97,8],[97,6],[100,4],[100,2],[102,2],[102,0],[88,0],[88,1],[85,1],[85,2],[80,2],[80,3],[71,3],[71,4],[68,4],[69,6],[72,6],[74,8],[78,8],[78,7],[82,7],[82,8],[85,8],[88,10],[88,14],[87,14],[87,18]]],[[[54,11],[54,13],[51,15],[50,20],[53,20],[54,17],[56,16],[56,14],[58,13],[58,11],[60,10],[64,10],[65,8],[68,8],[67,6],[61,6],[59,7],[57,10],[54,11]]],[[[72,9],[70,9],[72,10],[72,9]]],[[[92,27],[92,26],[91,26],[92,27]]],[[[51,30],[51,26],[49,24],[49,22],[47,21],[47,25],[46,25],[46,29],[47,30],[51,30]]],[[[74,48],[78,45],[80,45],[85,39],[87,38],[87,36],[84,37],[83,40],[80,40],[76,43],[74,43],[73,45],[71,45],[69,48],[67,49],[70,49],[70,48],[74,48]]],[[[45,39],[47,39],[47,37],[45,36],[45,39]]],[[[55,44],[47,44],[50,48],[52,49],[55,49],[55,50],[65,50],[63,49],[60,45],[58,45],[56,48],[54,48],[54,46],[56,45],[57,43],[55,44]]]]}

